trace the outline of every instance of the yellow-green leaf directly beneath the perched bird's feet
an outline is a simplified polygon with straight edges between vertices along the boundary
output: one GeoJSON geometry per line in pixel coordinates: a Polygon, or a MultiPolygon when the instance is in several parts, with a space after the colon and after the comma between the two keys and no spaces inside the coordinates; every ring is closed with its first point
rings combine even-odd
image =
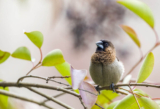
{"type": "MultiPolygon", "coordinates": [[[[102,107],[107,107],[113,99],[118,97],[117,93],[113,93],[111,90],[102,90],[100,95],[98,95],[96,103],[102,107]]],[[[99,109],[96,105],[92,107],[92,109],[99,109]]]]}

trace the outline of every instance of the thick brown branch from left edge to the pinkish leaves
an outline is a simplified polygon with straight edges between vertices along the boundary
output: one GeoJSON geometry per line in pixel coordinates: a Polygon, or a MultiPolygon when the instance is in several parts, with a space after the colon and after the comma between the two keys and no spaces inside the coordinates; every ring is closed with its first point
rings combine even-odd
{"type": "Polygon", "coordinates": [[[19,83],[17,82],[0,82],[1,87],[36,87],[36,88],[45,88],[45,89],[51,89],[51,90],[57,90],[57,91],[62,91],[68,94],[71,94],[75,97],[80,97],[79,94],[67,90],[64,87],[58,87],[58,86],[51,86],[51,85],[43,85],[43,84],[33,84],[33,83],[19,83]]]}

